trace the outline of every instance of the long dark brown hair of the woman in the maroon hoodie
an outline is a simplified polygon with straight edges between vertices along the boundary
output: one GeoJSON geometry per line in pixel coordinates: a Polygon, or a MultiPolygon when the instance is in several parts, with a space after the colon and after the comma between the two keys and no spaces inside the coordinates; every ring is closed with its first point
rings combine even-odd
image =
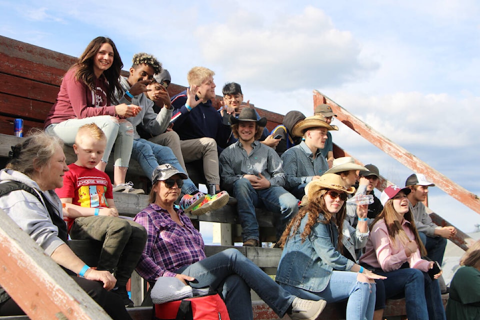
{"type": "Polygon", "coordinates": [[[116,49],[115,43],[110,38],[104,36],[97,36],[88,43],[83,53],[78,57],[78,60],[71,68],[75,68],[75,79],[85,83],[90,90],[95,90],[95,73],[93,72],[93,59],[103,43],[108,43],[113,49],[113,63],[111,66],[103,71],[103,76],[108,82],[108,98],[110,102],[116,103],[115,89],[121,92],[119,82],[120,71],[123,67],[120,54],[116,49]]]}

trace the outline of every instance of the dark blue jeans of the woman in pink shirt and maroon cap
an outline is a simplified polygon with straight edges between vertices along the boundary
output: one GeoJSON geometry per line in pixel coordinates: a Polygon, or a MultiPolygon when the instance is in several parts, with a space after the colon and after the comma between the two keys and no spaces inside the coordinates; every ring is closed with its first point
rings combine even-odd
{"type": "Polygon", "coordinates": [[[394,271],[376,271],[384,275],[385,297],[405,297],[408,320],[444,320],[445,309],[441,300],[438,280],[431,280],[426,272],[414,268],[394,271]]]}

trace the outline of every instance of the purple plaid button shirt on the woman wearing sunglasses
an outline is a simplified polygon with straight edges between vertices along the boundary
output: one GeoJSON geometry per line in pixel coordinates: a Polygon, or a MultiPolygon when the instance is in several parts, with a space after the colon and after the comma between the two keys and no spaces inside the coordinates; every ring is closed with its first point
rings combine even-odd
{"type": "Polygon", "coordinates": [[[159,276],[175,276],[182,266],[205,258],[200,232],[182,210],[177,210],[183,226],[170,218],[167,210],[150,203],[133,219],[146,229],[147,239],[136,271],[147,281],[159,276]]]}

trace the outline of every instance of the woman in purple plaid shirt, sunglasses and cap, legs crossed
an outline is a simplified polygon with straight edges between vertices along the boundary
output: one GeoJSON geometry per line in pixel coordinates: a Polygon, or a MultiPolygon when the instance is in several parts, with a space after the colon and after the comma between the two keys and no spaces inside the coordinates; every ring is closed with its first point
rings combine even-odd
{"type": "Polygon", "coordinates": [[[174,205],[186,178],[170,164],[153,171],[150,204],[134,218],[148,235],[137,272],[150,284],[160,276],[174,276],[194,288],[221,291],[232,320],[253,319],[250,289],[279,317],[288,313],[292,319],[316,319],[325,301],[291,295],[240,251],[231,248],[205,257],[201,234],[174,205]]]}

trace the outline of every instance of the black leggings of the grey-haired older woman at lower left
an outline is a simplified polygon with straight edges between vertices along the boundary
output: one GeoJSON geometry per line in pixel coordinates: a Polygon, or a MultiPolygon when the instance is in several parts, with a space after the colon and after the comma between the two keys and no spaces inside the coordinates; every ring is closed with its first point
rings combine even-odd
{"type": "MultiPolygon", "coordinates": [[[[103,289],[101,282],[87,280],[78,276],[72,276],[72,279],[95,300],[113,320],[131,320],[121,298],[117,294],[103,289]]],[[[25,312],[23,312],[13,299],[10,298],[0,303],[0,315],[22,314],[25,314],[25,312]]]]}

